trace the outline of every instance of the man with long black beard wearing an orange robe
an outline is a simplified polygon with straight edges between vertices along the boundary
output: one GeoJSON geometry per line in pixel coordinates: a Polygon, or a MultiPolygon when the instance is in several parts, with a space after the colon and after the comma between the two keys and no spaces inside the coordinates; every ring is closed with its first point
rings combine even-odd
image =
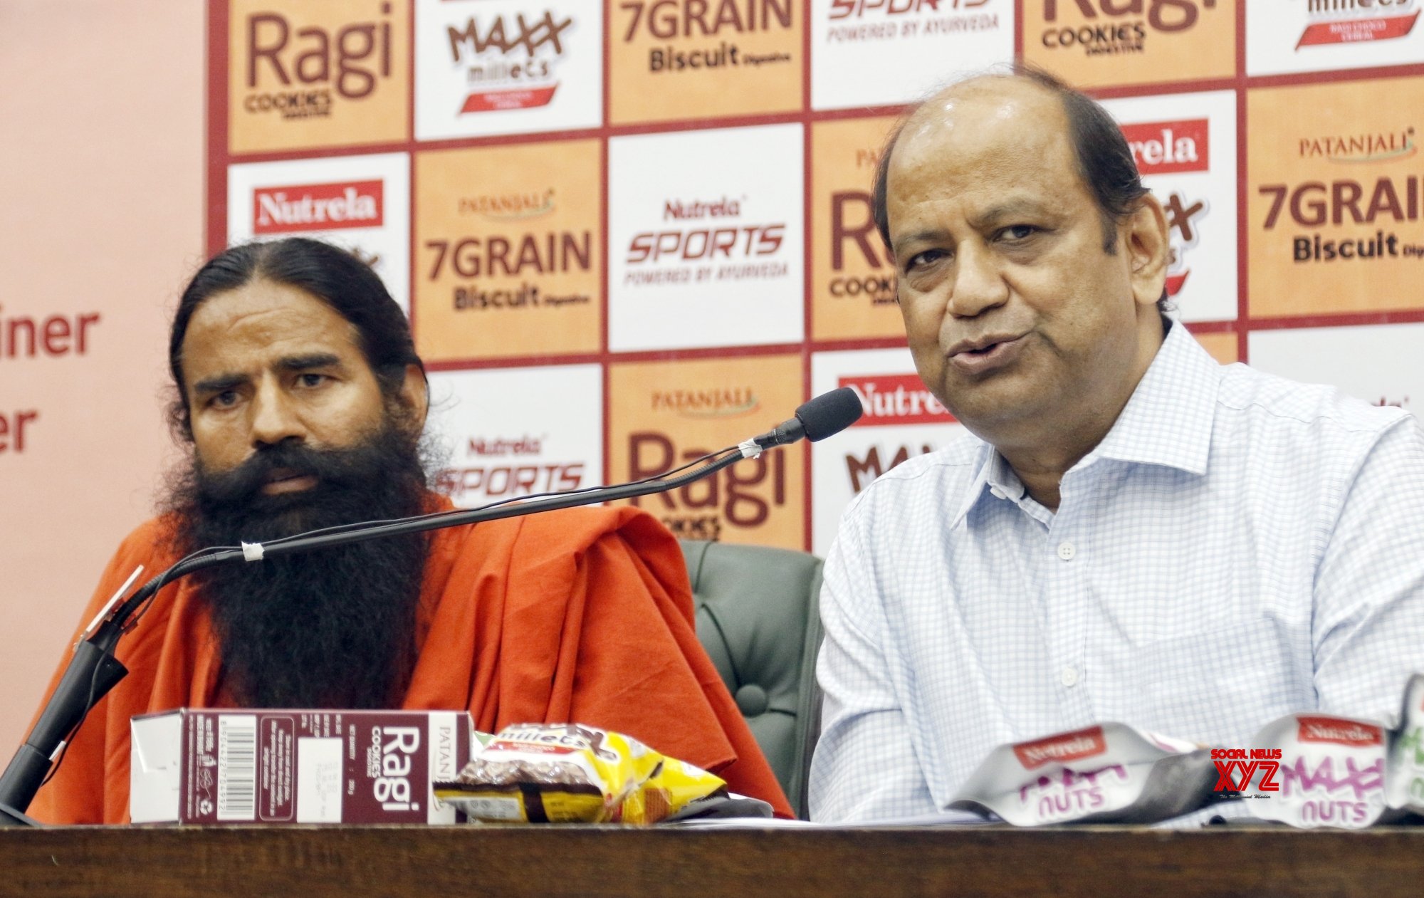
{"type": "MultiPolygon", "coordinates": [[[[184,291],[171,419],[192,448],[134,570],[205,546],[450,509],[420,458],[427,393],[404,315],[350,254],[234,247],[184,291]]],[[[676,542],[637,509],[575,509],[215,567],[165,586],[120,643],[130,676],[30,812],[128,817],[128,720],[174,707],[468,708],[480,730],[628,733],[789,805],[696,641],[676,542]]]]}

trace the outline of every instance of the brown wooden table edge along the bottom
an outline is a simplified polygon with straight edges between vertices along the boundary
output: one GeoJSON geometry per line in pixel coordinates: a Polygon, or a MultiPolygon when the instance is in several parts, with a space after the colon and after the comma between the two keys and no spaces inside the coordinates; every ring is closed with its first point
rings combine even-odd
{"type": "Polygon", "coordinates": [[[0,830],[28,895],[1415,895],[1424,828],[0,830]]]}

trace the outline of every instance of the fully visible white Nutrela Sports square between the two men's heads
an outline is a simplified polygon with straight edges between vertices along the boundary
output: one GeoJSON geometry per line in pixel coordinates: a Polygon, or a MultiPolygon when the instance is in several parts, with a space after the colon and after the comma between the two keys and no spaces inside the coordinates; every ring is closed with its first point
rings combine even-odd
{"type": "Polygon", "coordinates": [[[608,141],[608,345],[799,342],[799,124],[608,141]]]}

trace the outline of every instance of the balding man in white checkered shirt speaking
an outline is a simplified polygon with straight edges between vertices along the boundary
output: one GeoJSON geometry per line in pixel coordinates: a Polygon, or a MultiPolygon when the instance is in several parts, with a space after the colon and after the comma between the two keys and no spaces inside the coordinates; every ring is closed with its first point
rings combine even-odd
{"type": "Polygon", "coordinates": [[[943,810],[998,744],[1124,721],[1246,745],[1388,720],[1424,669],[1424,436],[1218,365],[1112,118],[1034,70],[913,110],[874,212],[965,439],[862,492],[826,563],[816,820],[943,810]]]}

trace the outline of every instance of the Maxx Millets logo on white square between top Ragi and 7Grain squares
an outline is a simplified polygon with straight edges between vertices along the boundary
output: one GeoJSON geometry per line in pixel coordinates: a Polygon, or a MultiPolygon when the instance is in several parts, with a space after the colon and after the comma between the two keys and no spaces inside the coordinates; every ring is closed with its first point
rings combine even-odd
{"type": "Polygon", "coordinates": [[[543,17],[513,21],[494,16],[480,24],[471,17],[463,29],[446,27],[451,64],[463,68],[470,93],[460,113],[493,113],[548,105],[558,80],[554,66],[564,57],[564,31],[572,17],[558,20],[545,10],[543,17]]]}

